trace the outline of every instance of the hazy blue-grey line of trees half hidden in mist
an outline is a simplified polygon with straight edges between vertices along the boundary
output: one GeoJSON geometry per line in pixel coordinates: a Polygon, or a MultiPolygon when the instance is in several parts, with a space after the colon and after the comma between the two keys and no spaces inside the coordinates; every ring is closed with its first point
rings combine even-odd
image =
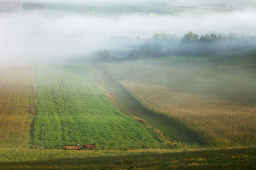
{"type": "Polygon", "coordinates": [[[130,50],[125,55],[116,55],[115,50],[100,50],[93,54],[95,61],[136,60],[147,57],[164,57],[172,55],[212,55],[221,52],[233,52],[256,48],[256,36],[228,36],[205,34],[198,36],[188,32],[181,39],[177,35],[154,34],[151,38],[132,39],[127,36],[111,36],[112,45],[122,45],[130,50]]]}

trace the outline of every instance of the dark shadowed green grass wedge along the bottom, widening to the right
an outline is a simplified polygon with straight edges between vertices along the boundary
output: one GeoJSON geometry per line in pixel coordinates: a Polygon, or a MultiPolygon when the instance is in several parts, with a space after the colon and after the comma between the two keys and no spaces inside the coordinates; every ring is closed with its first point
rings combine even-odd
{"type": "Polygon", "coordinates": [[[255,169],[256,148],[1,162],[1,169],[255,169]]]}

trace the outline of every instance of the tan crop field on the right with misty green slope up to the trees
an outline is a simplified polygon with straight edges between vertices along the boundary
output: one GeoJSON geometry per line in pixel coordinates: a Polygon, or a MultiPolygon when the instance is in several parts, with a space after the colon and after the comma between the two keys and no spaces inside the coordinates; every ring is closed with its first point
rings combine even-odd
{"type": "Polygon", "coordinates": [[[141,103],[186,124],[209,145],[256,144],[255,51],[102,64],[141,103]]]}

